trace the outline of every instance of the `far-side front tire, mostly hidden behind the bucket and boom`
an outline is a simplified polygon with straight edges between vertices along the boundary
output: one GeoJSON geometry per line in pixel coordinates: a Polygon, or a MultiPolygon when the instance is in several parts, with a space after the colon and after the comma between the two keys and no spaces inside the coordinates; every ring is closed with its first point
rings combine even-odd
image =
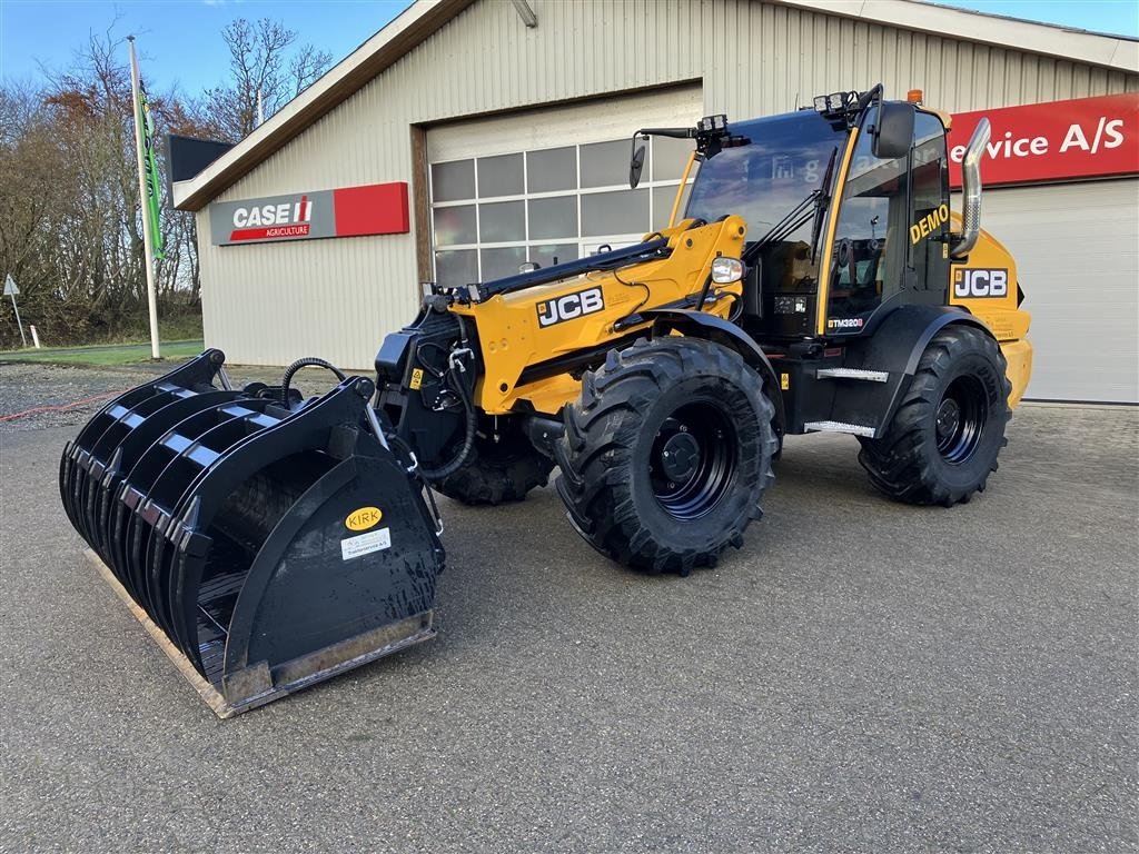
{"type": "Polygon", "coordinates": [[[464,504],[503,504],[522,501],[535,486],[546,486],[552,469],[554,461],[524,435],[507,434],[495,443],[478,434],[461,468],[433,481],[432,488],[464,504]]]}

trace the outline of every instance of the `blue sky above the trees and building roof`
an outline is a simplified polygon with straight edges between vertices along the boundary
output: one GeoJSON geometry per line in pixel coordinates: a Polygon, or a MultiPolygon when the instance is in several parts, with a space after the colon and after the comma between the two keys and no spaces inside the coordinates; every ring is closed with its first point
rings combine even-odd
{"type": "MultiPolygon", "coordinates": [[[[0,0],[0,77],[35,80],[41,66],[65,68],[75,47],[92,31],[106,31],[117,16],[115,34],[138,36],[142,74],[151,90],[178,83],[196,91],[221,82],[227,55],[219,32],[236,17],[281,20],[301,34],[300,41],[312,42],[338,60],[407,5],[408,0],[0,0]]],[[[945,5],[1139,36],[1136,0],[954,0],[945,5]]]]}

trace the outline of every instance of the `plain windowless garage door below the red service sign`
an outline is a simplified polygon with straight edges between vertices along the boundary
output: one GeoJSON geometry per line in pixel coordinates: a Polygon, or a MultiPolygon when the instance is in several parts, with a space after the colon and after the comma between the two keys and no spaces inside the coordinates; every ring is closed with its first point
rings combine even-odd
{"type": "Polygon", "coordinates": [[[1027,397],[1139,402],[1139,180],[985,190],[1035,348],[1027,397]]]}

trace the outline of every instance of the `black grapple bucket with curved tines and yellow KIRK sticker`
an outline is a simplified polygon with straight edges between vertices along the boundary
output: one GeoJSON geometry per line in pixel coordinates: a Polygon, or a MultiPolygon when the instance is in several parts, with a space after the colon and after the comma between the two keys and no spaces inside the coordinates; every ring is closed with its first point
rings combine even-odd
{"type": "Polygon", "coordinates": [[[206,351],[113,401],[65,449],[59,484],[75,529],[229,716],[433,637],[443,549],[370,417],[371,380],[285,407],[224,387],[223,361],[206,351]]]}

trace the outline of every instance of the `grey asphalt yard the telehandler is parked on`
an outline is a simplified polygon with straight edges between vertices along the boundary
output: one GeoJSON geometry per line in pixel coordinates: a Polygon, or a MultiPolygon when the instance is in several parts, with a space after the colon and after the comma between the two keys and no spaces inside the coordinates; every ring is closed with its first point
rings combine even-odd
{"type": "Polygon", "coordinates": [[[0,852],[1139,846],[1139,410],[1023,407],[953,510],[793,437],[683,580],[598,557],[551,488],[444,500],[440,637],[226,722],[83,560],[74,433],[0,436],[0,852]]]}

